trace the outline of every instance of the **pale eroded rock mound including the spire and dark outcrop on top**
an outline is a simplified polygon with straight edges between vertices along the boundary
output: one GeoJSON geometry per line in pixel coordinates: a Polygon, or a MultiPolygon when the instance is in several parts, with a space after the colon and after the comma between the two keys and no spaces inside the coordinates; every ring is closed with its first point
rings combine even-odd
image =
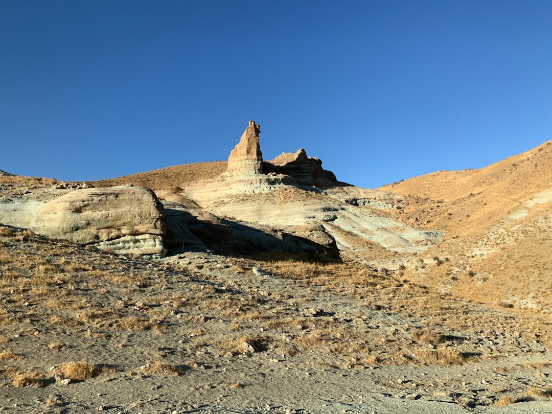
{"type": "Polygon", "coordinates": [[[182,185],[181,195],[213,215],[291,233],[377,268],[397,269],[440,241],[442,233],[415,229],[378,211],[401,209],[403,197],[338,182],[302,148],[263,162],[259,132],[250,121],[227,173],[182,185]]]}

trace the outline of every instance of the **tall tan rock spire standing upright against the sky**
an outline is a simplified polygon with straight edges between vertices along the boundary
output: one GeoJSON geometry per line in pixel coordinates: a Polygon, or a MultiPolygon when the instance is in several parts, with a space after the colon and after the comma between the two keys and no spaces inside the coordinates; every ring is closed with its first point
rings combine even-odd
{"type": "Polygon", "coordinates": [[[249,121],[240,142],[228,157],[228,174],[231,177],[254,176],[263,173],[263,154],[259,145],[261,125],[249,121]]]}

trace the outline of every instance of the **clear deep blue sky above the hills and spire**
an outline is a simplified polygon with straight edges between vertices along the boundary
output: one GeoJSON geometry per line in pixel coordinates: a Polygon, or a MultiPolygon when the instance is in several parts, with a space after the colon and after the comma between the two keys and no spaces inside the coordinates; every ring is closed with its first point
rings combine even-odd
{"type": "Polygon", "coordinates": [[[552,1],[0,0],[0,169],[93,180],[306,148],[376,188],[552,139],[552,1]]]}

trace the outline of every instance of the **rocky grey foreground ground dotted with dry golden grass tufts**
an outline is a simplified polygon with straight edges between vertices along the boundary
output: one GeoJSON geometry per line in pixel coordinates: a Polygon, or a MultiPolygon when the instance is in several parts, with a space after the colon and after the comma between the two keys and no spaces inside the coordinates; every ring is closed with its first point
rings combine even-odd
{"type": "Polygon", "coordinates": [[[343,263],[1,234],[2,411],[552,411],[543,316],[343,263]]]}

